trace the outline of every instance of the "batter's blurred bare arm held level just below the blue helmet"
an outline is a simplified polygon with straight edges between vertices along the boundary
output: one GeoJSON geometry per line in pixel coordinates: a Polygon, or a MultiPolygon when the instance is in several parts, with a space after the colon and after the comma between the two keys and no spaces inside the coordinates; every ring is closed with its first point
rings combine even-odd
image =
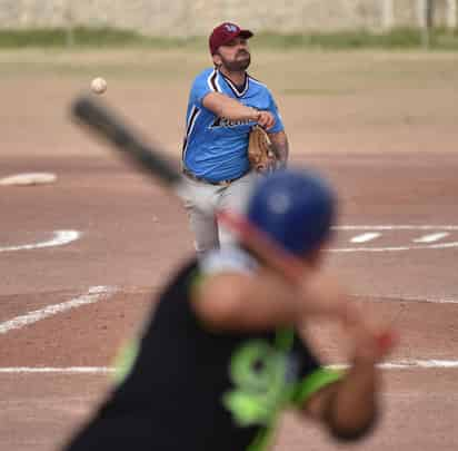
{"type": "Polygon", "coordinates": [[[300,326],[311,316],[339,318],[347,312],[342,291],[329,275],[305,265],[300,280],[291,284],[270,268],[258,268],[256,276],[228,271],[197,285],[195,305],[218,327],[252,331],[300,326]]]}

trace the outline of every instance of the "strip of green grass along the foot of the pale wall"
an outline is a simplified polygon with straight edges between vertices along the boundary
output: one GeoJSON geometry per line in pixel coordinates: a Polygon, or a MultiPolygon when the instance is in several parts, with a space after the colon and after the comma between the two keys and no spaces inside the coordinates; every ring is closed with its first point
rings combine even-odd
{"type": "MultiPolygon", "coordinates": [[[[206,38],[159,38],[147,37],[135,31],[113,28],[74,28],[69,35],[64,29],[0,30],[0,49],[7,48],[59,48],[69,43],[88,48],[201,48],[206,38]]],[[[399,28],[386,33],[367,30],[311,32],[307,35],[277,35],[262,32],[257,35],[253,45],[258,48],[320,48],[330,50],[345,49],[416,49],[425,46],[421,31],[399,28]]],[[[458,30],[432,29],[429,48],[438,50],[458,50],[458,30]]]]}

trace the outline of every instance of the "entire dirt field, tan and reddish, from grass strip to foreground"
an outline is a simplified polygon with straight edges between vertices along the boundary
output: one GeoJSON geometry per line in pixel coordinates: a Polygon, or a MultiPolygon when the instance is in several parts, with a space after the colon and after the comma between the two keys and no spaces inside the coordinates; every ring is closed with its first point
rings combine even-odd
{"type": "MultiPolygon", "coordinates": [[[[206,62],[188,56],[180,67],[182,57],[0,53],[0,178],[58,176],[0,187],[1,450],[59,449],[109,390],[118,346],[165,277],[192,253],[179,203],[68,118],[73,96],[104,76],[107,100],[178,156],[190,77],[206,62]],[[40,247],[59,231],[77,237],[40,247]]],[[[340,195],[329,266],[401,332],[384,373],[386,414],[355,448],[456,450],[458,57],[261,53],[255,69],[277,94],[292,163],[340,195]]],[[[323,359],[341,362],[337,332],[312,332],[323,359]]],[[[306,448],[336,449],[286,415],[276,450],[306,448]]]]}

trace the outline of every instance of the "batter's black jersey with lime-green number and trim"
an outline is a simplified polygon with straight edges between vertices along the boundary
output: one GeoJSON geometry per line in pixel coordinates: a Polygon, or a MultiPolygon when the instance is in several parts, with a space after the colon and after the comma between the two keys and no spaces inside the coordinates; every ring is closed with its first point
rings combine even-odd
{"type": "Polygon", "coordinates": [[[338,374],[293,331],[217,333],[189,301],[196,261],[162,292],[133,363],[69,451],[258,451],[278,414],[338,374]]]}

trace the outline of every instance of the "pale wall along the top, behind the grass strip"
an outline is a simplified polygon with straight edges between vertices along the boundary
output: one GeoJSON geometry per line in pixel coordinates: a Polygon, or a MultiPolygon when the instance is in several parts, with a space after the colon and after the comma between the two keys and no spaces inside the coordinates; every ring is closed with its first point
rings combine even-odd
{"type": "MultiPolygon", "coordinates": [[[[418,24],[419,1],[0,0],[0,27],[57,27],[71,21],[137,29],[148,35],[193,36],[208,35],[216,23],[231,20],[256,31],[377,30],[386,24],[384,3],[386,7],[387,2],[392,2],[392,24],[418,24]]],[[[449,1],[435,0],[440,23],[446,22],[449,1]]]]}

